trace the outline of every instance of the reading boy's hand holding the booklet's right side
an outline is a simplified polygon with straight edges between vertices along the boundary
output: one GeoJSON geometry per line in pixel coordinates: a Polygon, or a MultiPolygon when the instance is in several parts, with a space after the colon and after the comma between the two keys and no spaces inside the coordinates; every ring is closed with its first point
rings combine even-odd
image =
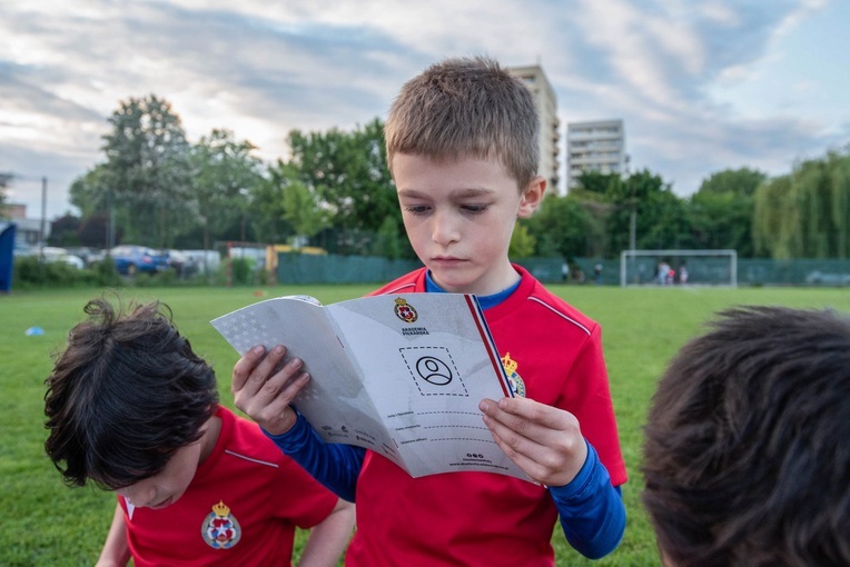
{"type": "Polygon", "coordinates": [[[478,408],[496,444],[537,483],[564,486],[582,469],[587,446],[569,411],[527,398],[485,399],[478,408]]]}

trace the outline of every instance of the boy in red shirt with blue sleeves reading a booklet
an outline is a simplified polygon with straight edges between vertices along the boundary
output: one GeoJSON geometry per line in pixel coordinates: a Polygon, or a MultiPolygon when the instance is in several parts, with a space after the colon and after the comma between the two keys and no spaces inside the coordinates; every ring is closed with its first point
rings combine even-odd
{"type": "Polygon", "coordinates": [[[546,188],[538,129],[531,92],[493,60],[448,59],[407,82],[386,122],[387,160],[425,268],[375,291],[478,296],[515,394],[482,400],[483,424],[533,483],[468,471],[412,478],[380,455],[318,439],[290,406],[309,360],[276,370],[285,346],[257,347],[234,368],[236,406],[323,484],[356,498],[347,565],[553,565],[559,518],[587,557],[622,538],[626,472],[600,326],[507,257],[516,219],[546,188]]]}

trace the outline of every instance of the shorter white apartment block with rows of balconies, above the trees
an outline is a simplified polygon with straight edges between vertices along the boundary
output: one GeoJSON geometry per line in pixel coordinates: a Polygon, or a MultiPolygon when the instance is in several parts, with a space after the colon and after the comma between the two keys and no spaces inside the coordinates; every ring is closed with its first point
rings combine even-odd
{"type": "Polygon", "coordinates": [[[575,187],[584,171],[626,175],[625,130],[622,120],[566,125],[566,186],[575,187]]]}

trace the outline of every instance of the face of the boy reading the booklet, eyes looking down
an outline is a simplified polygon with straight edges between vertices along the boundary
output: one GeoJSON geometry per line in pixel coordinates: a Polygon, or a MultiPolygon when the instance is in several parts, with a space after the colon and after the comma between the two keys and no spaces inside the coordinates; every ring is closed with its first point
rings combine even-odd
{"type": "Polygon", "coordinates": [[[516,281],[507,258],[517,217],[537,208],[545,180],[521,192],[497,159],[393,157],[393,178],[413,249],[449,292],[496,294],[516,281]]]}

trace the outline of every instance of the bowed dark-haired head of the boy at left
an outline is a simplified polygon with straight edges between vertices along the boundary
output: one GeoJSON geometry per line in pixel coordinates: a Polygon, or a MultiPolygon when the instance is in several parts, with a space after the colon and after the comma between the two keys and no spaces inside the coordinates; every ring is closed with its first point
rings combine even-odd
{"type": "Polygon", "coordinates": [[[46,380],[47,454],[70,486],[91,480],[136,506],[167,506],[195,475],[215,374],[164,304],[123,314],[99,298],[85,312],[46,380]]]}

